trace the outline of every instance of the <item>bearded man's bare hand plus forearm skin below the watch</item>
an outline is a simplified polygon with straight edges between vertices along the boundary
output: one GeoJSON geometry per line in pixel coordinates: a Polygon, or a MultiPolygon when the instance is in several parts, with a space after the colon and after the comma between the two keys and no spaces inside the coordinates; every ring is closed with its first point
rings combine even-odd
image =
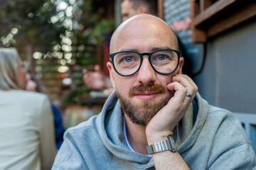
{"type": "MultiPolygon", "coordinates": [[[[172,77],[167,89],[175,91],[174,96],[146,126],[148,145],[166,140],[169,135],[173,135],[174,127],[183,118],[198,91],[193,80],[184,74],[172,77]],[[186,94],[191,94],[192,97],[186,94]]],[[[190,169],[178,152],[164,151],[153,154],[152,157],[156,169],[190,169]]]]}

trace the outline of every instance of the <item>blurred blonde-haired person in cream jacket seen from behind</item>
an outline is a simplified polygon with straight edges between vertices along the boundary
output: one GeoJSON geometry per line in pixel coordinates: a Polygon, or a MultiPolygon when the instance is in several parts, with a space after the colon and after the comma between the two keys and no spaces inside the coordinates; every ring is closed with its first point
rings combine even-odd
{"type": "Polygon", "coordinates": [[[57,153],[50,101],[26,84],[16,49],[0,48],[0,169],[50,169],[57,153]]]}

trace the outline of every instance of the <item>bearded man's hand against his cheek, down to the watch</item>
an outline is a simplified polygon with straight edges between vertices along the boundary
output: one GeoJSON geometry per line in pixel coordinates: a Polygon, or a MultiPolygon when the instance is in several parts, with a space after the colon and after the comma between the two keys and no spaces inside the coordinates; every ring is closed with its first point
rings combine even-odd
{"type": "Polygon", "coordinates": [[[172,77],[171,83],[167,84],[167,89],[175,91],[175,93],[167,105],[146,126],[146,137],[149,145],[166,140],[169,135],[173,134],[174,127],[183,118],[198,91],[193,80],[184,74],[172,77]],[[186,94],[191,94],[192,98],[186,94]]]}

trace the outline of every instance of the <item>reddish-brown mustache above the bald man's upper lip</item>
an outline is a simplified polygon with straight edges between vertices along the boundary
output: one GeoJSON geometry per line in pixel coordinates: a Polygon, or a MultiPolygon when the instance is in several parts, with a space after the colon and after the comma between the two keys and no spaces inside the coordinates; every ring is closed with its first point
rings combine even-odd
{"type": "Polygon", "coordinates": [[[150,85],[143,85],[140,84],[139,86],[134,86],[132,89],[129,90],[129,96],[134,96],[137,94],[137,92],[142,92],[142,91],[159,91],[165,92],[167,91],[166,87],[161,85],[161,84],[150,84],[150,85]]]}

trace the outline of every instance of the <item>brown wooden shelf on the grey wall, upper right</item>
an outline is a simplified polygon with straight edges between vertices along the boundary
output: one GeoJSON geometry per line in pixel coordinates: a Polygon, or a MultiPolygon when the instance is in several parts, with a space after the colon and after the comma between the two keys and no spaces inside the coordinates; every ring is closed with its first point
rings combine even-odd
{"type": "Polygon", "coordinates": [[[254,0],[219,0],[211,5],[209,0],[199,1],[201,12],[196,15],[198,1],[190,0],[191,23],[189,27],[193,43],[206,42],[208,37],[256,17],[256,1],[254,0]]]}

